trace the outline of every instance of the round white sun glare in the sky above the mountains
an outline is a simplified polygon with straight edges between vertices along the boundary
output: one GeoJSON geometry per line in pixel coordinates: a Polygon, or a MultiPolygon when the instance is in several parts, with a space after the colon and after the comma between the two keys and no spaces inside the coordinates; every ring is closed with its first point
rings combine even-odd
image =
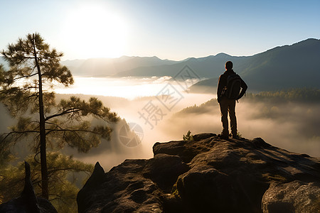
{"type": "Polygon", "coordinates": [[[126,48],[127,24],[105,5],[82,5],[70,11],[62,31],[75,58],[117,58],[126,48]]]}

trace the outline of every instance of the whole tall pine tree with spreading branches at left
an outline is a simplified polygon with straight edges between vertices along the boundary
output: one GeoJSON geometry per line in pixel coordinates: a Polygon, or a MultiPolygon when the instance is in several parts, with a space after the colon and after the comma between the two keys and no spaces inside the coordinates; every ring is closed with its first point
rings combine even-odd
{"type": "Polygon", "coordinates": [[[53,88],[56,84],[68,87],[73,76],[67,67],[60,65],[63,53],[44,42],[38,33],[19,38],[1,51],[10,69],[0,69],[0,99],[9,109],[17,124],[1,138],[2,151],[22,138],[33,136],[36,156],[40,153],[42,196],[48,199],[47,144],[63,148],[66,144],[78,151],[87,152],[100,143],[100,138],[110,139],[110,122],[118,120],[117,114],[92,97],[88,102],[77,97],[55,103],[53,88]],[[92,127],[84,117],[106,121],[106,125],[92,127]]]}

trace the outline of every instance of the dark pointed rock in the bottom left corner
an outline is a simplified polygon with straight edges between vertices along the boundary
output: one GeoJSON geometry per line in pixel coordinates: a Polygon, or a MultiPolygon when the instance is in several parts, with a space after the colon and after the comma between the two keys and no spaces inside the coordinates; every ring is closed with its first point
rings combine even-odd
{"type": "Polygon", "coordinates": [[[36,197],[31,182],[30,165],[24,163],[26,176],[24,179],[24,187],[20,197],[10,200],[4,204],[0,204],[0,213],[57,213],[55,207],[46,199],[36,197]]]}

